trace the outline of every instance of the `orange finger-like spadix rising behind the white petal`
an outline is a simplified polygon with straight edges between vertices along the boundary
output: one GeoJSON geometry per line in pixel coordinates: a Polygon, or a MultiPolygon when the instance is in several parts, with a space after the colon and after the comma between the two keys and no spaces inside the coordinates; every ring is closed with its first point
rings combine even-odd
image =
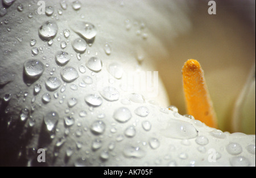
{"type": "Polygon", "coordinates": [[[187,112],[210,127],[217,128],[217,118],[210,100],[204,71],[197,60],[189,59],[182,69],[187,112]]]}

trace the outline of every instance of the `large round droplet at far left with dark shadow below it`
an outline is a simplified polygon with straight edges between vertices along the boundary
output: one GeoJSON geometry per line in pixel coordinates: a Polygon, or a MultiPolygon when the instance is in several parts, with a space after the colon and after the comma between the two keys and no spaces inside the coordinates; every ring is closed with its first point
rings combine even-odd
{"type": "Polygon", "coordinates": [[[27,60],[24,63],[24,72],[30,78],[38,78],[44,72],[44,64],[35,59],[27,60]]]}

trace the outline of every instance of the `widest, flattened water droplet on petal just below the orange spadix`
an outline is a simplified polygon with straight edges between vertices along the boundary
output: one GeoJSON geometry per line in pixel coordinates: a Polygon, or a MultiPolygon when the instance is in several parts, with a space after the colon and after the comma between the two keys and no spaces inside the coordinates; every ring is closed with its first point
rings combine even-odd
{"type": "Polygon", "coordinates": [[[175,120],[166,123],[165,129],[160,133],[175,139],[192,139],[197,136],[197,130],[191,123],[175,120]]]}

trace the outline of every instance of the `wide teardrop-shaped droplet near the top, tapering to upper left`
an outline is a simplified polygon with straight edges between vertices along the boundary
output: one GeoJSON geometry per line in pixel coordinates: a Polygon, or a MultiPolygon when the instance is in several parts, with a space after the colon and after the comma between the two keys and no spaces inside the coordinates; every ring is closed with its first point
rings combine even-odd
{"type": "Polygon", "coordinates": [[[77,34],[81,35],[87,42],[90,43],[97,34],[96,28],[92,23],[84,21],[75,21],[70,24],[70,27],[77,34]]]}

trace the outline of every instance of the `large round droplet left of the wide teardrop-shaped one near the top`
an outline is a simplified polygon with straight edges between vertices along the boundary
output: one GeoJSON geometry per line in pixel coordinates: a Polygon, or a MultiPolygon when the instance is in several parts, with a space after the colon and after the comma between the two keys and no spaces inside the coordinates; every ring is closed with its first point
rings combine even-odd
{"type": "Polygon", "coordinates": [[[38,33],[43,40],[49,40],[56,36],[57,30],[57,24],[52,20],[48,20],[39,27],[38,33]]]}

